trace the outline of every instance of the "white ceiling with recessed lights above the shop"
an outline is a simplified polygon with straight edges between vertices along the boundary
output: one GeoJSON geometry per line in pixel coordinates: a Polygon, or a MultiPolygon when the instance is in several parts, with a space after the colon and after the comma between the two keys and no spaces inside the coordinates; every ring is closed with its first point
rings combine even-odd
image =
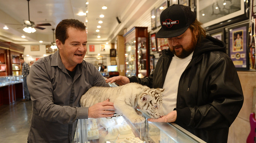
{"type": "MultiPolygon", "coordinates": [[[[114,42],[115,37],[123,35],[123,29],[134,23],[156,0],[88,0],[87,19],[88,43],[114,42]],[[101,9],[107,6],[106,10],[101,9]],[[99,15],[104,14],[104,18],[99,15]],[[121,21],[118,24],[116,17],[121,21]],[[102,20],[102,24],[98,21],[102,20]],[[101,28],[97,28],[101,25],[101,28]],[[99,29],[99,32],[96,32],[99,29]],[[98,39],[97,35],[101,38],[98,39]]],[[[53,42],[53,31],[62,19],[78,19],[85,23],[86,16],[78,16],[86,11],[86,0],[30,0],[30,21],[35,24],[50,23],[52,26],[40,26],[46,29],[36,29],[34,33],[25,33],[22,29],[23,20],[29,20],[27,0],[0,0],[0,40],[17,44],[45,44],[53,42]],[[21,25],[12,25],[12,24],[21,25]],[[9,29],[3,29],[4,26],[9,29]],[[25,35],[26,38],[21,38],[25,35]]]]}

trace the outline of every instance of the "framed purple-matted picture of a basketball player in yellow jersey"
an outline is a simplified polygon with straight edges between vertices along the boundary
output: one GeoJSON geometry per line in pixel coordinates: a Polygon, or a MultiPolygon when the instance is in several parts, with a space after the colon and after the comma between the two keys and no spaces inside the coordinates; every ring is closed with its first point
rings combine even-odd
{"type": "Polygon", "coordinates": [[[247,50],[248,24],[241,24],[228,28],[228,53],[237,70],[249,69],[247,50]],[[239,34],[239,36],[238,36],[239,34]]]}

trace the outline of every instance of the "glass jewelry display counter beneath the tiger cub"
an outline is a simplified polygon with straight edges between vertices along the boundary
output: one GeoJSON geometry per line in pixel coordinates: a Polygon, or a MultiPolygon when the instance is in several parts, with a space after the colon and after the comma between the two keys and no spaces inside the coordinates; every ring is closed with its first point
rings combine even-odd
{"type": "Polygon", "coordinates": [[[175,123],[147,121],[133,124],[124,116],[79,119],[73,143],[205,143],[175,123]]]}

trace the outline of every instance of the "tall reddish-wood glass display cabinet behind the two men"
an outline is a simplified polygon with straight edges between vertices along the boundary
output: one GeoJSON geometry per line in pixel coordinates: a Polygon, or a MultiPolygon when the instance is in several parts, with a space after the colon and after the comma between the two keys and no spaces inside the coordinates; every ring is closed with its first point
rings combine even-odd
{"type": "Polygon", "coordinates": [[[125,76],[149,76],[147,27],[134,27],[123,35],[125,43],[125,76]]]}

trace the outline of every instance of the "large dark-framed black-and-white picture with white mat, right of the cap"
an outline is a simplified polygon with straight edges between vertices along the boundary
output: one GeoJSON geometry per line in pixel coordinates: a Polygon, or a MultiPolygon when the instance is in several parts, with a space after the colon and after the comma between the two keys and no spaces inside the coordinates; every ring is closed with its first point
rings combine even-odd
{"type": "Polygon", "coordinates": [[[205,29],[216,29],[249,18],[248,1],[225,1],[225,5],[222,1],[209,1],[207,3],[200,1],[196,0],[195,12],[197,20],[203,23],[205,29]]]}

